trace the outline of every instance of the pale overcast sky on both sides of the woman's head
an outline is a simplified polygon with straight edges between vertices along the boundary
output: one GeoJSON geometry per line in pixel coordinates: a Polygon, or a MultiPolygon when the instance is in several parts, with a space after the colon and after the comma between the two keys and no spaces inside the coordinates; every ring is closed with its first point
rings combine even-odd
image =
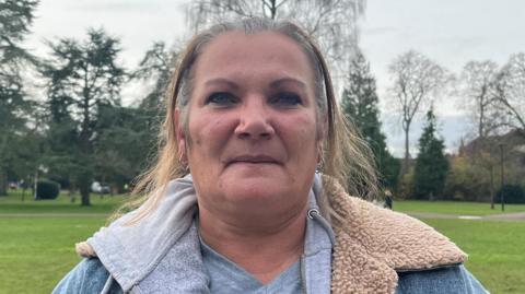
{"type": "MultiPolygon", "coordinates": [[[[44,40],[84,38],[88,27],[104,27],[119,37],[122,63],[138,64],[155,40],[168,45],[187,36],[184,1],[168,0],[40,0],[26,47],[45,57],[44,40]]],[[[360,20],[360,47],[377,79],[380,99],[389,85],[387,67],[397,56],[416,49],[458,74],[470,60],[504,63],[511,54],[525,51],[525,1],[523,0],[368,0],[360,20]]],[[[125,104],[140,90],[122,91],[125,104]]],[[[456,152],[469,131],[468,118],[453,97],[435,104],[440,131],[448,152],[456,152]]],[[[382,103],[383,130],[388,148],[402,154],[404,136],[396,116],[382,103]]],[[[412,126],[412,154],[421,133],[421,120],[412,126]]]]}

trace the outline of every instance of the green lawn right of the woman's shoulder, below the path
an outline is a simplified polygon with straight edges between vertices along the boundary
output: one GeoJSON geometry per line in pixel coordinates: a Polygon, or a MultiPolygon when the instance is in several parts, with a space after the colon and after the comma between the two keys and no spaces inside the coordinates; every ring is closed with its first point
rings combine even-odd
{"type": "Polygon", "coordinates": [[[525,222],[423,221],[469,255],[465,266],[491,293],[525,293],[525,222]]]}

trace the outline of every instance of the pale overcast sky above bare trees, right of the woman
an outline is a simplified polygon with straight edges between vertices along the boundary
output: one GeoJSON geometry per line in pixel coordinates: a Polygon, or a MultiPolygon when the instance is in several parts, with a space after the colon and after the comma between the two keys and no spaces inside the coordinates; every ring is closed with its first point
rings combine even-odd
{"type": "MultiPolygon", "coordinates": [[[[524,15],[522,0],[368,0],[360,22],[360,47],[377,79],[380,99],[387,95],[388,64],[409,49],[455,74],[470,60],[505,63],[510,55],[525,51],[524,15]]],[[[454,97],[442,97],[434,105],[447,151],[457,152],[462,137],[469,138],[470,120],[454,97]]],[[[389,149],[399,156],[404,142],[400,125],[388,107],[382,106],[389,149]]],[[[412,129],[410,141],[416,143],[421,120],[412,129]]]]}

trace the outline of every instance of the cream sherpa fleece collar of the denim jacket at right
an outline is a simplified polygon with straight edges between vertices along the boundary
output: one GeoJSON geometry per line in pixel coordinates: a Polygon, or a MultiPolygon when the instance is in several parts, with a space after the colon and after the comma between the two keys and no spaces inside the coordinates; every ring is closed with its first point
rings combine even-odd
{"type": "Polygon", "coordinates": [[[408,215],[348,197],[324,177],[334,211],[332,293],[395,293],[396,271],[458,264],[466,255],[447,237],[408,215]],[[328,184],[328,185],[327,185],[328,184]]]}

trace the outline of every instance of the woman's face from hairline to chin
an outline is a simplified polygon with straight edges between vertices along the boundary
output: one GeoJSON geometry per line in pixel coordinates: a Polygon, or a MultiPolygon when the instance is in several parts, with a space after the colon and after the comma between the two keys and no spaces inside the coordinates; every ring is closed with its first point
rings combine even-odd
{"type": "Polygon", "coordinates": [[[304,210],[322,150],[306,55],[277,33],[230,32],[205,47],[194,70],[189,136],[178,144],[200,210],[304,210]]]}

